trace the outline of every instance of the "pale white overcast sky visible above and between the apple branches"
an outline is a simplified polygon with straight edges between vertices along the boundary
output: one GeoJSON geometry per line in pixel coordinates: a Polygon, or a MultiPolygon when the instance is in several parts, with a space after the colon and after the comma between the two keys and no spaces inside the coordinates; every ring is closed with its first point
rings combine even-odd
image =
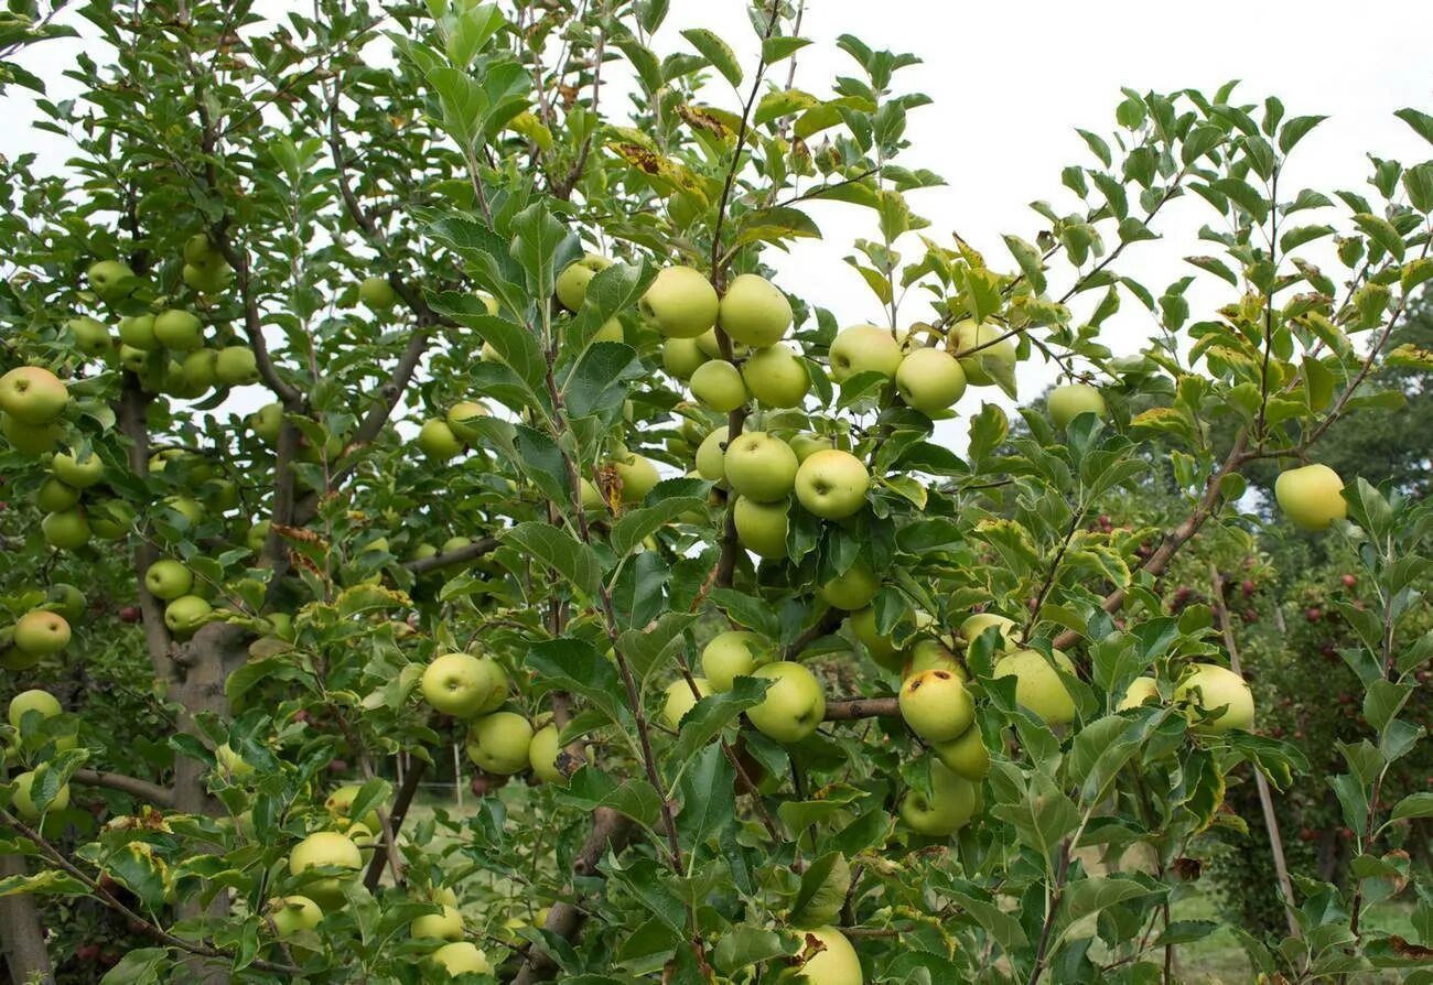
{"type": "MultiPolygon", "coordinates": [[[[679,29],[708,27],[732,44],[749,77],[757,42],[745,0],[672,0],[671,6],[656,40],[659,54],[686,49],[679,29]]],[[[1228,79],[1242,79],[1235,102],[1261,103],[1274,93],[1288,116],[1328,115],[1331,119],[1298,146],[1283,188],[1366,190],[1366,152],[1404,163],[1433,156],[1433,146],[1391,116],[1403,106],[1433,112],[1433,3],[1363,0],[1351,7],[1334,0],[1297,6],[1205,0],[1181,10],[1148,0],[808,0],[802,34],[815,43],[798,56],[798,87],[824,94],[835,74],[858,73],[835,49],[843,33],[860,36],[873,49],[911,52],[923,60],[897,76],[897,87],[934,99],[933,106],[913,113],[907,129],[913,149],[901,162],[929,168],[949,182],[914,198],[916,210],[933,223],[924,235],[949,243],[949,233],[957,229],[993,265],[1007,269],[1013,261],[1000,233],[1035,239],[1042,220],[1027,208],[1030,200],[1048,199],[1059,212],[1073,210],[1073,196],[1059,183],[1060,168],[1092,163],[1075,127],[1111,130],[1121,86],[1212,93],[1228,79]]],[[[46,43],[32,49],[24,62],[53,82],[52,96],[59,97],[73,89],[59,73],[76,50],[73,42],[46,43]]],[[[784,80],[785,66],[774,77],[784,80]]],[[[67,149],[29,130],[24,125],[34,116],[33,105],[23,90],[10,92],[0,153],[39,150],[43,169],[60,168],[67,149]]],[[[737,106],[735,94],[719,79],[708,99],[737,106]]],[[[874,235],[873,213],[838,203],[818,203],[811,212],[825,241],[802,241],[790,256],[772,253],[782,286],[831,308],[843,324],[878,319],[877,302],[841,261],[851,252],[851,239],[874,235]]],[[[1331,212],[1304,215],[1305,222],[1338,225],[1331,212]]],[[[1179,258],[1214,252],[1211,243],[1195,239],[1199,225],[1211,218],[1194,196],[1172,203],[1156,225],[1165,239],[1131,248],[1121,269],[1161,293],[1168,282],[1194,272],[1179,258]]],[[[916,248],[906,253],[914,258],[916,248]]],[[[1338,268],[1328,262],[1326,271],[1337,275],[1338,268]]],[[[1052,276],[1052,288],[1059,289],[1059,283],[1052,276]]],[[[1189,298],[1192,319],[1227,299],[1217,286],[1202,292],[1197,286],[1189,298]]],[[[903,318],[907,315],[920,318],[919,304],[903,309],[903,318]]],[[[1142,308],[1126,299],[1119,315],[1106,322],[1105,338],[1116,352],[1129,352],[1149,331],[1142,308]]],[[[1035,397],[1052,377],[1039,358],[1023,365],[1022,397],[1035,397]]],[[[979,399],[996,399],[996,394],[977,391],[976,402],[967,395],[962,407],[977,407],[979,399]]]]}

